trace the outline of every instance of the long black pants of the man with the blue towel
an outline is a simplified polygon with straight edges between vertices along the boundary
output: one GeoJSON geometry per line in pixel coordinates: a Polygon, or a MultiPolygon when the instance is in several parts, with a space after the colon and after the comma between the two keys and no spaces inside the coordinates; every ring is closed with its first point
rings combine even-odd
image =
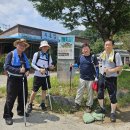
{"type": "MultiPolygon", "coordinates": [[[[25,103],[27,103],[28,97],[28,86],[27,86],[27,78],[24,77],[24,88],[25,88],[25,103]]],[[[4,107],[3,118],[13,117],[12,109],[14,106],[14,102],[17,98],[17,113],[24,113],[24,101],[23,101],[23,78],[16,76],[8,76],[7,78],[7,97],[6,103],[4,107]]]]}

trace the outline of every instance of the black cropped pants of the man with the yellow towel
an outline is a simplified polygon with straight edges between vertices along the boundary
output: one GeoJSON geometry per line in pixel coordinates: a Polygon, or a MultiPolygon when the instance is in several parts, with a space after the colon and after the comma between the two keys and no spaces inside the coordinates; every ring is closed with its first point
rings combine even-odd
{"type": "Polygon", "coordinates": [[[98,86],[98,99],[104,99],[104,90],[107,89],[111,103],[117,103],[117,77],[105,77],[100,75],[98,86]]]}

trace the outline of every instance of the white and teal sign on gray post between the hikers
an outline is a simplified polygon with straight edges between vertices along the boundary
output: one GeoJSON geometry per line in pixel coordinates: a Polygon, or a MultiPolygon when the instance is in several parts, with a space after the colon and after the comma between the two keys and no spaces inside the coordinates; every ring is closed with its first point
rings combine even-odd
{"type": "Polygon", "coordinates": [[[57,77],[60,82],[69,82],[70,64],[74,63],[75,36],[59,36],[58,57],[57,57],[57,77]]]}

